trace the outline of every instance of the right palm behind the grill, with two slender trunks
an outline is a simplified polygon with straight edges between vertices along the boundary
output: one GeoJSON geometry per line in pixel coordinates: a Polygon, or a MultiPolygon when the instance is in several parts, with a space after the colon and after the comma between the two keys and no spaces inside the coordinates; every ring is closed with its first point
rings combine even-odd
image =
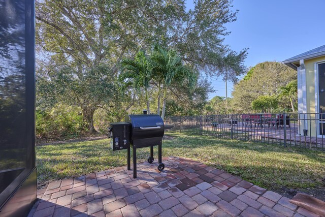
{"type": "Polygon", "coordinates": [[[160,46],[154,47],[154,52],[151,56],[152,72],[155,79],[158,81],[158,109],[160,107],[160,85],[163,84],[163,110],[161,118],[165,118],[167,90],[171,84],[188,85],[193,88],[196,84],[196,74],[188,67],[183,65],[182,59],[176,50],[165,50],[160,46]]]}

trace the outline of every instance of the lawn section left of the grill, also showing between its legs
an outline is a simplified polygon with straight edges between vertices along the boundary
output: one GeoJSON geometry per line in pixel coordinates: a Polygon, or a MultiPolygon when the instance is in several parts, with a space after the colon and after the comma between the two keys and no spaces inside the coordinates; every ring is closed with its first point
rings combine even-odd
{"type": "MultiPolygon", "coordinates": [[[[156,147],[154,153],[157,153],[156,147]]],[[[138,162],[146,161],[149,148],[137,150],[138,162]]],[[[38,181],[78,177],[126,165],[127,150],[112,151],[107,140],[37,147],[38,181]]]]}

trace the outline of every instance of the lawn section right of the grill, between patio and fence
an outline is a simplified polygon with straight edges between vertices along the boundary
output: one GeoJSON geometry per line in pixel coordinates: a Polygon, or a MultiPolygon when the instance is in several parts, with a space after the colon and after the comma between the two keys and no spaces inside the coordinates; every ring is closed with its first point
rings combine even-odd
{"type": "Polygon", "coordinates": [[[262,187],[323,188],[322,152],[206,136],[183,136],[165,147],[167,156],[192,158],[262,187]]]}

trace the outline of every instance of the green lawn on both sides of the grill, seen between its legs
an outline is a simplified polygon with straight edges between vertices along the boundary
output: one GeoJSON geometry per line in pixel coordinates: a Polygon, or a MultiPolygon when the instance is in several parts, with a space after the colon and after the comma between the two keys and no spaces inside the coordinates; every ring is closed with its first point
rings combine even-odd
{"type": "MultiPolygon", "coordinates": [[[[279,145],[168,133],[163,156],[187,157],[223,169],[267,189],[323,187],[325,153],[279,145]]],[[[109,139],[37,146],[39,184],[126,165],[126,150],[112,151],[109,139]]],[[[157,148],[154,148],[155,154],[157,148]]],[[[137,151],[147,160],[149,148],[137,151]]],[[[156,156],[156,155],[155,155],[156,156]]]]}

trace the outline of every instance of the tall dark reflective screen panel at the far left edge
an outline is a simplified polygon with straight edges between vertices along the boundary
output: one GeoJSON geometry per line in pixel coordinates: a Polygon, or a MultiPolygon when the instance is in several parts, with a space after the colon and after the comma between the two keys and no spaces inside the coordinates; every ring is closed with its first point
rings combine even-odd
{"type": "Polygon", "coordinates": [[[25,7],[0,0],[0,205],[35,166],[35,35],[25,7]]]}

